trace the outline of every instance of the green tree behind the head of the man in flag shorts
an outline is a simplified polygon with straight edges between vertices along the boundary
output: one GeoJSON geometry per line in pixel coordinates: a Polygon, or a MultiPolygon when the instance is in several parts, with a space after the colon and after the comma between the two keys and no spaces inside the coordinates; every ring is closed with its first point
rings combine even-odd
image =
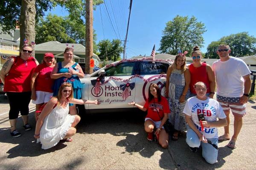
{"type": "Polygon", "coordinates": [[[219,58],[216,53],[218,45],[227,44],[230,46],[230,56],[243,57],[256,54],[256,38],[248,32],[241,32],[222,37],[218,41],[211,42],[207,47],[206,57],[219,58]]]}

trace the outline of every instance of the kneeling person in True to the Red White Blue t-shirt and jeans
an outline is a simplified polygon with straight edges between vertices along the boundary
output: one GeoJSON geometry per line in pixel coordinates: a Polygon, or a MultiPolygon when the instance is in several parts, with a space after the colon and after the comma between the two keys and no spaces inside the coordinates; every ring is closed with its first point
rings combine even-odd
{"type": "Polygon", "coordinates": [[[204,82],[195,84],[195,92],[197,96],[189,98],[183,110],[188,124],[186,142],[192,152],[202,145],[202,156],[209,164],[214,164],[218,157],[217,127],[227,125],[226,115],[215,99],[206,96],[204,82]]]}

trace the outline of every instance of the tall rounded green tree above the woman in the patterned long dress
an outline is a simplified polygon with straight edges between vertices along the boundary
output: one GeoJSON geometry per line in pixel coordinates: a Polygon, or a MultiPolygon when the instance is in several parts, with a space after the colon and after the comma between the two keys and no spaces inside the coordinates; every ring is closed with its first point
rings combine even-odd
{"type": "Polygon", "coordinates": [[[206,31],[204,23],[198,22],[196,17],[177,15],[172,21],[166,23],[158,51],[176,55],[179,50],[182,50],[190,54],[195,45],[203,47],[202,35],[206,31]]]}

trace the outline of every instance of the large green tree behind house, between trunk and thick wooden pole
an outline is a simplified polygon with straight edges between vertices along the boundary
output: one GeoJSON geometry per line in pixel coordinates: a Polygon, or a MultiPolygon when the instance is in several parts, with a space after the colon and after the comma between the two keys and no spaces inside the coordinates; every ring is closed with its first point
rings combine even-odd
{"type": "MultiPolygon", "coordinates": [[[[48,14],[36,25],[35,41],[40,44],[47,41],[61,43],[80,43],[85,46],[85,23],[81,18],[71,19],[70,15],[61,17],[48,14]]],[[[96,34],[93,34],[93,52],[97,51],[96,34]]]]}

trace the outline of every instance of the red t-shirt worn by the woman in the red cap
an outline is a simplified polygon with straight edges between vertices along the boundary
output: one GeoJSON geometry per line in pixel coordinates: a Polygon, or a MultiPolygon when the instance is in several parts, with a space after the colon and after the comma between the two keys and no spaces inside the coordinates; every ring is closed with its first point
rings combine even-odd
{"type": "Polygon", "coordinates": [[[53,67],[50,68],[46,64],[39,64],[34,73],[38,73],[38,77],[35,80],[35,91],[46,91],[53,93],[52,86],[54,79],[51,79],[50,74],[53,70],[53,67]]]}

